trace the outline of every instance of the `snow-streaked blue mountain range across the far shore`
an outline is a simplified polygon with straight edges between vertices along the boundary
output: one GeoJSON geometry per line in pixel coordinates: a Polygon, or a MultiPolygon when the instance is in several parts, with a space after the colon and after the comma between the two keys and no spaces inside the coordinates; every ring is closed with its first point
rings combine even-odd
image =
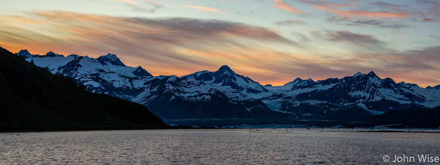
{"type": "Polygon", "coordinates": [[[186,76],[152,76],[142,67],[125,66],[116,55],[99,58],[53,52],[18,53],[52,73],[74,77],[92,92],[141,103],[163,119],[253,118],[320,119],[338,114],[365,117],[388,110],[440,106],[440,85],[381,79],[373,72],[341,79],[295,80],[262,86],[228,66],[186,76]]]}

